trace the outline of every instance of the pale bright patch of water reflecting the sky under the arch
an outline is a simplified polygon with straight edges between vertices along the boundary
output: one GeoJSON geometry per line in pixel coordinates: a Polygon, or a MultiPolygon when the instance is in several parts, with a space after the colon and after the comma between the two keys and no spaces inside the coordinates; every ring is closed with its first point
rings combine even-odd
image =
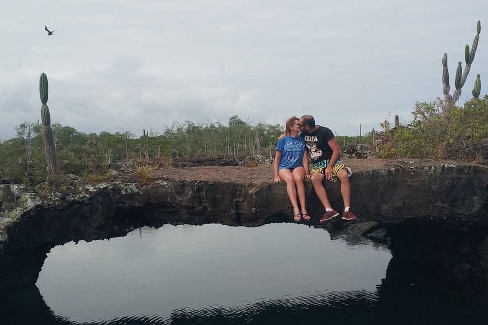
{"type": "Polygon", "coordinates": [[[234,308],[316,290],[374,290],[389,251],[369,242],[350,248],[298,224],[165,225],[57,246],[37,286],[56,314],[76,321],[169,315],[182,307],[234,308]]]}

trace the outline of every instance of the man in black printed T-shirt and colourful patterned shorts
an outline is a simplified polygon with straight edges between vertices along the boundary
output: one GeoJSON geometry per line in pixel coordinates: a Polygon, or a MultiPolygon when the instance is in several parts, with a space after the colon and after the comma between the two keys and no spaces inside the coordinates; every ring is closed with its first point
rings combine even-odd
{"type": "Polygon", "coordinates": [[[314,164],[310,170],[310,178],[312,179],[317,197],[325,208],[325,214],[319,222],[324,223],[340,217],[339,212],[331,207],[324,185],[322,184],[324,178],[330,180],[334,176],[341,181],[341,194],[344,201],[342,219],[345,221],[357,220],[356,216],[350,210],[351,184],[349,183],[349,176],[351,176],[352,172],[339,159],[341,148],[339,148],[334,134],[327,127],[315,125],[315,119],[312,115],[303,115],[300,118],[300,129],[300,137],[305,141],[310,159],[314,164]]]}

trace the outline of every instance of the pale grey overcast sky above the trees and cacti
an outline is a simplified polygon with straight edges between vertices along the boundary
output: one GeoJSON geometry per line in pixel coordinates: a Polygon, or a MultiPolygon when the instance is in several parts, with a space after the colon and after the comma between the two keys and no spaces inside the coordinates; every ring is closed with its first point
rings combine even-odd
{"type": "Polygon", "coordinates": [[[51,120],[85,133],[139,135],[235,114],[282,124],[312,114],[340,135],[379,128],[388,115],[409,122],[416,101],[442,96],[443,53],[451,80],[457,61],[464,67],[477,20],[461,103],[477,73],[486,93],[487,14],[485,0],[9,1],[0,139],[39,119],[42,72],[51,120]]]}

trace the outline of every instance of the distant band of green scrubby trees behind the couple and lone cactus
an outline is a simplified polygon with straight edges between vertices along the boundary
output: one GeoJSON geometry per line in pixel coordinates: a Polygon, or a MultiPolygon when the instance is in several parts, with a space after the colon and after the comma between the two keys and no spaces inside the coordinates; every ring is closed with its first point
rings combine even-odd
{"type": "MultiPolygon", "coordinates": [[[[0,143],[0,176],[31,185],[45,181],[46,159],[39,124],[24,122],[15,129],[15,138],[0,143]]],[[[89,176],[104,173],[120,161],[131,161],[136,167],[164,167],[175,156],[274,156],[284,126],[251,124],[232,116],[226,124],[175,122],[162,132],[143,130],[139,138],[130,132],[85,134],[59,123],[52,124],[52,129],[62,173],[89,176]]],[[[359,138],[338,140],[343,145],[359,138]]]]}

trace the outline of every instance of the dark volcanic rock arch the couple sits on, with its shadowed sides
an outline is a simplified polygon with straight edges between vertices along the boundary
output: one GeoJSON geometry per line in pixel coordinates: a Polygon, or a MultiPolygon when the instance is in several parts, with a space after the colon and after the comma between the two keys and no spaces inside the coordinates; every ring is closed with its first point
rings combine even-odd
{"type": "MultiPolygon", "coordinates": [[[[369,160],[374,159],[361,161],[369,160]]],[[[360,222],[342,226],[387,240],[395,258],[432,265],[429,269],[448,281],[488,283],[488,168],[419,161],[353,167],[352,207],[360,222]]],[[[20,185],[0,185],[0,286],[35,283],[46,253],[71,240],[124,236],[143,225],[164,223],[292,221],[286,185],[272,181],[272,166],[170,169],[153,176],[142,188],[102,183],[45,200],[20,185]]],[[[309,213],[318,220],[323,210],[311,185],[307,180],[309,213]]],[[[325,186],[339,210],[339,181],[325,181],[325,186]]]]}

